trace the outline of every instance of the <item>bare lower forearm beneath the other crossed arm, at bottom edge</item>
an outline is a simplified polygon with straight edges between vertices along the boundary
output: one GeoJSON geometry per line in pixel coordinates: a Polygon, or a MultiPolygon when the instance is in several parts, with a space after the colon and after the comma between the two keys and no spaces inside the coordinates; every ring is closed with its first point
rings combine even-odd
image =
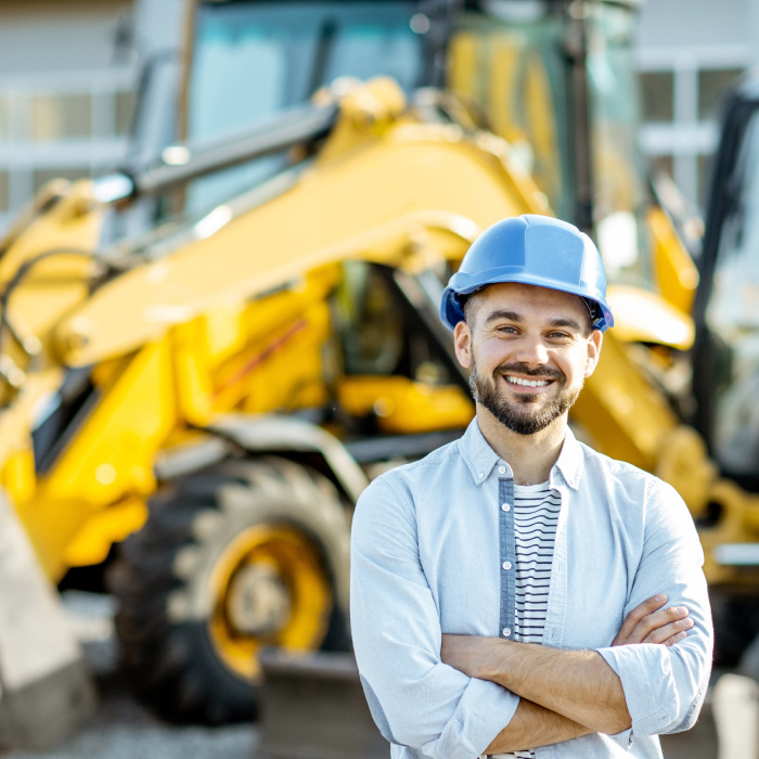
{"type": "Polygon", "coordinates": [[[588,735],[592,730],[522,698],[511,722],[492,739],[486,754],[524,751],[588,735]]]}

